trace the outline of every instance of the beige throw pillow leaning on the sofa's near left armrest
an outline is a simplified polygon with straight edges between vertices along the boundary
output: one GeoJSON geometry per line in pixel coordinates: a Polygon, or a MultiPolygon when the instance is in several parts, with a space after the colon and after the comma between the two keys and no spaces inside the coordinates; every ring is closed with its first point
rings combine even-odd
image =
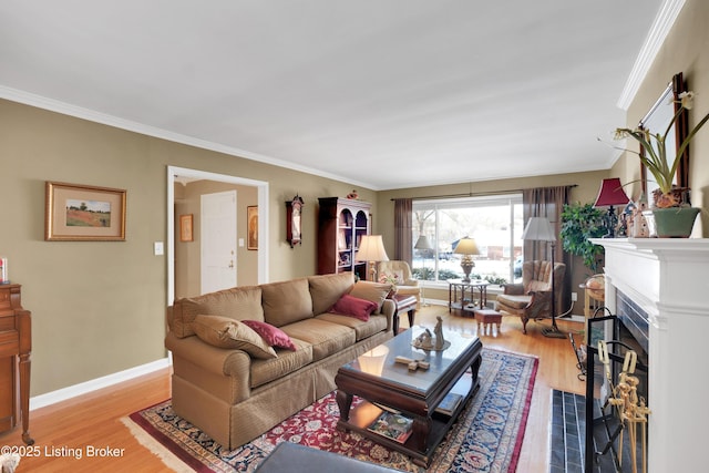
{"type": "Polygon", "coordinates": [[[192,323],[199,339],[213,347],[244,350],[254,358],[276,358],[276,351],[250,327],[222,316],[198,315],[192,323]]]}

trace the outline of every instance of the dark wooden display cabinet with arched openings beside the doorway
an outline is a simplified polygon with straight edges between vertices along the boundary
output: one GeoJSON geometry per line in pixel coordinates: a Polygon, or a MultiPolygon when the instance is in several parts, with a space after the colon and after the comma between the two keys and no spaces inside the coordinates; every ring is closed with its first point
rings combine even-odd
{"type": "Polygon", "coordinates": [[[367,261],[356,261],[362,235],[370,233],[371,204],[320,197],[318,210],[318,274],[352,271],[367,279],[367,261]]]}

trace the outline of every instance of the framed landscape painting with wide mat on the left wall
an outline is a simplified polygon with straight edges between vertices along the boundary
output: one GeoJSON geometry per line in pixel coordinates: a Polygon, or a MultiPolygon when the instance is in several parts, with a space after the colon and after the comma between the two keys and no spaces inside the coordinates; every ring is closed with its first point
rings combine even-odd
{"type": "Polygon", "coordinates": [[[125,240],[125,191],[47,182],[44,239],[125,240]]]}

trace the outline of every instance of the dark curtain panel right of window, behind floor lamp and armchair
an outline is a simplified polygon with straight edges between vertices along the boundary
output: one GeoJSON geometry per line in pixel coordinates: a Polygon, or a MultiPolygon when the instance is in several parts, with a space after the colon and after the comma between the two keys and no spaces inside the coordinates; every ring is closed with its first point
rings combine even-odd
{"type": "MultiPolygon", "coordinates": [[[[566,273],[564,274],[564,288],[562,294],[562,307],[557,308],[558,315],[564,313],[571,307],[571,286],[572,286],[572,267],[571,256],[562,248],[562,241],[558,236],[562,229],[562,219],[559,217],[564,209],[564,204],[568,204],[568,196],[572,186],[558,187],[540,187],[522,191],[522,208],[524,222],[531,217],[546,217],[554,227],[556,243],[554,244],[554,261],[565,263],[566,273]]],[[[524,241],[524,259],[549,259],[549,248],[546,241],[524,241]]]]}

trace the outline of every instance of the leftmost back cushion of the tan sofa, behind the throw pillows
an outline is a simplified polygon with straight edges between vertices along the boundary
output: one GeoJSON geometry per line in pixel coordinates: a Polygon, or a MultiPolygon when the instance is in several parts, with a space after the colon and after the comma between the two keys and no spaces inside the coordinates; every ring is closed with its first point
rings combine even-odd
{"type": "Polygon", "coordinates": [[[244,286],[177,299],[172,309],[171,330],[178,338],[195,335],[197,315],[229,317],[235,320],[264,320],[260,286],[244,286]]]}

